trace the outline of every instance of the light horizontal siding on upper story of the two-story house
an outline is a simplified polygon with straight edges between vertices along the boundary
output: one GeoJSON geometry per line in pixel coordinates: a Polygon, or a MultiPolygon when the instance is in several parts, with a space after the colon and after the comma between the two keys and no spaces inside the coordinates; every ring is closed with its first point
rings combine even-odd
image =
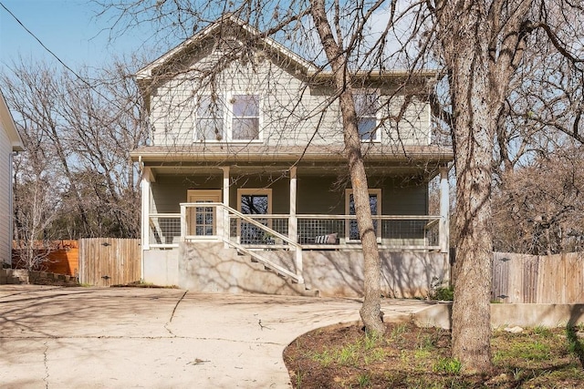
{"type": "MultiPolygon", "coordinates": [[[[257,53],[256,53],[257,54],[257,53]]],[[[261,55],[261,53],[259,53],[261,55]]],[[[237,92],[261,97],[262,141],[268,145],[306,145],[342,143],[339,105],[331,101],[332,89],[307,87],[287,70],[278,67],[268,56],[260,56],[254,64],[232,63],[214,81],[218,93],[237,92]],[[316,136],[315,131],[318,130],[316,136]]],[[[195,63],[193,69],[214,67],[217,56],[195,63]]],[[[256,55],[255,58],[258,58],[256,55]]],[[[193,117],[197,94],[209,94],[210,86],[193,80],[197,73],[182,74],[157,88],[151,97],[151,123],[154,145],[186,145],[193,142],[193,117]]],[[[208,84],[208,83],[207,83],[208,84]]],[[[403,97],[381,97],[381,142],[387,145],[427,145],[429,143],[428,105],[413,100],[397,123],[403,97]]],[[[229,108],[229,102],[225,102],[229,108]]]]}

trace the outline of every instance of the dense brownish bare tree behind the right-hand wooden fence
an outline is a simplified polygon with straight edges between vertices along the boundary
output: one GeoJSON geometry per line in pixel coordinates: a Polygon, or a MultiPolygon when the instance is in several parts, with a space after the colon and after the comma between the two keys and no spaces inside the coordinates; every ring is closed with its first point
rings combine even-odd
{"type": "Polygon", "coordinates": [[[550,255],[584,249],[584,159],[564,141],[506,171],[494,193],[495,250],[550,255]]]}

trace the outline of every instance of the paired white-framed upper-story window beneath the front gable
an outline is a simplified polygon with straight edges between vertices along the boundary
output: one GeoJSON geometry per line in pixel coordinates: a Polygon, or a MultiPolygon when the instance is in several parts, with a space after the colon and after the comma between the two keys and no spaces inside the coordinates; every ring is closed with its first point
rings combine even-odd
{"type": "Polygon", "coordinates": [[[255,140],[259,121],[257,95],[203,95],[196,107],[194,136],[200,141],[255,140]]]}

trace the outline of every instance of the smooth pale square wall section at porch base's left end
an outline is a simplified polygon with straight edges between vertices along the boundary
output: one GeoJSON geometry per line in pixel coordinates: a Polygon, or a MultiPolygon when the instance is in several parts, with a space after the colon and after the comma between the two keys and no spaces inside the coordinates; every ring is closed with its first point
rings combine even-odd
{"type": "Polygon", "coordinates": [[[179,286],[179,251],[143,251],[143,281],[155,285],[179,286]]]}

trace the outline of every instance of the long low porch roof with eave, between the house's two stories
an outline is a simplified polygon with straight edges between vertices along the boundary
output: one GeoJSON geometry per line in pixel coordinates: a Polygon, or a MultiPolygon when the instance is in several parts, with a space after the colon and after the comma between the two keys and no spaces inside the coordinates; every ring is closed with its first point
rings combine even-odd
{"type": "MultiPolygon", "coordinates": [[[[453,160],[453,150],[442,146],[394,147],[363,145],[369,174],[416,174],[433,177],[453,160]]],[[[130,153],[155,174],[219,174],[229,167],[235,174],[287,171],[300,175],[343,174],[347,161],[342,146],[269,147],[255,144],[193,144],[184,147],[151,146],[130,153]]]]}

